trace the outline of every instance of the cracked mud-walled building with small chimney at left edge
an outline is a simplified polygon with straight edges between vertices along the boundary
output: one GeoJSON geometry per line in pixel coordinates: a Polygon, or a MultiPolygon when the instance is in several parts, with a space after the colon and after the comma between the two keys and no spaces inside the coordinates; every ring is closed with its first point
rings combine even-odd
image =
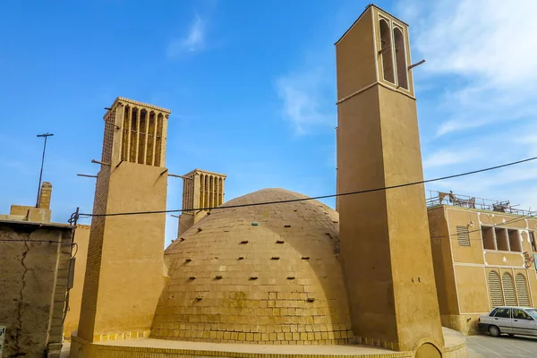
{"type": "Polygon", "coordinates": [[[74,226],[50,223],[52,185],[38,207],[12,205],[0,215],[0,326],[4,357],[59,357],[72,287],[74,226]]]}

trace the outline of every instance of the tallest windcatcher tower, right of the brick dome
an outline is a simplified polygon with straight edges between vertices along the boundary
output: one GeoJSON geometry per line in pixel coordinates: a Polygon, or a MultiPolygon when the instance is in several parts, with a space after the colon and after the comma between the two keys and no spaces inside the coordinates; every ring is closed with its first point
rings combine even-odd
{"type": "MultiPolygon", "coordinates": [[[[336,43],[337,192],[423,179],[408,26],[369,5],[336,43]]],[[[355,337],[440,356],[423,185],[339,198],[355,337]]]]}

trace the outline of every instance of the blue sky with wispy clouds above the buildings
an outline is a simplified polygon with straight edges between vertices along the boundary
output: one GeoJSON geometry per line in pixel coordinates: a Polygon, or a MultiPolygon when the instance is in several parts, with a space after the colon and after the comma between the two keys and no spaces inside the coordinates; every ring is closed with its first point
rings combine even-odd
{"type": "MultiPolygon", "coordinates": [[[[0,13],[0,212],[35,202],[42,141],[53,219],[92,208],[104,107],[172,109],[166,165],[226,173],[226,200],[266,187],[336,188],[334,42],[369,2],[9,2],[0,13]]],[[[379,1],[411,24],[425,177],[537,155],[531,0],[379,1]],[[524,50],[521,50],[523,48],[524,50]]],[[[537,207],[535,165],[431,190],[537,207]]],[[[169,179],[168,209],[182,183],[169,179]]],[[[334,206],[334,200],[326,200],[334,206]]],[[[166,239],[176,218],[167,217],[166,239]]]]}

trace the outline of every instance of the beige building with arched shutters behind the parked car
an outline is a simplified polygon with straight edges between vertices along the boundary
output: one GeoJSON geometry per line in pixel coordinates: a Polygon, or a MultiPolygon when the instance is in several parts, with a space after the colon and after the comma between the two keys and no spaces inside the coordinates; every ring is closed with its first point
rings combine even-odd
{"type": "Polygon", "coordinates": [[[475,333],[478,316],[493,307],[537,305],[535,213],[443,192],[428,205],[444,326],[475,333]]]}

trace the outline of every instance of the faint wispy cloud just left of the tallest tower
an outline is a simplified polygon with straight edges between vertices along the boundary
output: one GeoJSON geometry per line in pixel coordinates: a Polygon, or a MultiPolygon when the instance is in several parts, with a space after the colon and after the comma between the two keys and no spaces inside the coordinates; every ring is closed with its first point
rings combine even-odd
{"type": "Polygon", "coordinates": [[[304,134],[317,125],[335,124],[336,115],[327,92],[332,79],[320,67],[277,79],[277,96],[282,100],[282,115],[297,134],[304,134]]]}

